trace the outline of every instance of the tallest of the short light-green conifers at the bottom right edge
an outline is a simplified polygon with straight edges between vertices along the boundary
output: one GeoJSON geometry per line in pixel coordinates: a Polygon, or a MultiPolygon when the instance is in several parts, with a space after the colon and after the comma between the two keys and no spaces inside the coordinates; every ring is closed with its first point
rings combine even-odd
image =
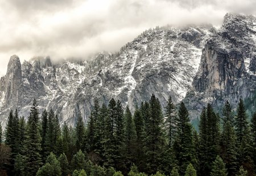
{"type": "Polygon", "coordinates": [[[210,172],[210,176],[226,176],[228,175],[228,171],[225,168],[225,163],[221,159],[220,156],[216,157],[216,160],[213,161],[212,171],[210,172]]]}

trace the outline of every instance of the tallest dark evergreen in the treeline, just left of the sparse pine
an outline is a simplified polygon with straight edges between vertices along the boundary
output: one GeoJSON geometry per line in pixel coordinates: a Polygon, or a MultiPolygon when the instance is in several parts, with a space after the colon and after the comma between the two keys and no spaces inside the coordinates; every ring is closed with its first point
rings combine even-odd
{"type": "Polygon", "coordinates": [[[150,99],[150,117],[144,138],[144,151],[147,158],[148,173],[155,173],[160,162],[163,146],[165,145],[163,133],[163,114],[158,98],[155,95],[150,99]]]}

